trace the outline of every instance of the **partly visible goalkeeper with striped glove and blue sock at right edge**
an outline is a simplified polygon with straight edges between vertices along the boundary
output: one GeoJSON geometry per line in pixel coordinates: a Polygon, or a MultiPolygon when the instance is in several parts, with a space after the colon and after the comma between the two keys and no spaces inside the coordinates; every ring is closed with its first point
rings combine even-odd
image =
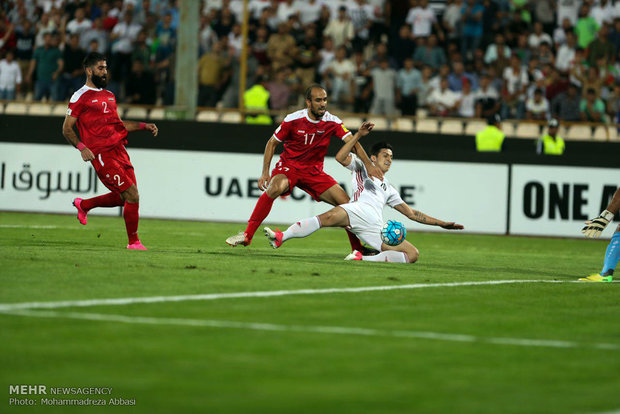
{"type": "MultiPolygon", "coordinates": [[[[586,237],[596,238],[601,235],[605,227],[610,221],[614,219],[614,216],[620,208],[620,188],[618,188],[614,194],[613,199],[607,206],[607,208],[597,218],[586,221],[586,225],[581,232],[586,237]]],[[[609,246],[605,252],[605,261],[603,262],[603,270],[601,273],[595,273],[588,277],[583,277],[579,280],[585,282],[611,282],[613,279],[614,269],[620,259],[620,225],[616,228],[616,232],[611,236],[609,246]]]]}

